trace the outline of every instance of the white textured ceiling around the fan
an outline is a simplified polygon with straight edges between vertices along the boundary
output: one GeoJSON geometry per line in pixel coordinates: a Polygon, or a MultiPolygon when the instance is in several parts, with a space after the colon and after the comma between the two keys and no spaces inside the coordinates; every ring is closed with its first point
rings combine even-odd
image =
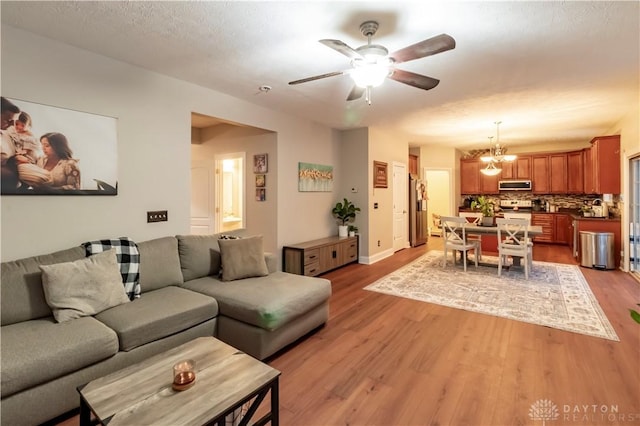
{"type": "Polygon", "coordinates": [[[637,105],[640,3],[631,2],[10,2],[2,24],[347,129],[384,126],[398,140],[463,149],[586,142],[637,105]],[[447,33],[448,52],[399,68],[440,79],[424,91],[387,80],[347,102],[348,58],[318,43],[395,51],[447,33]],[[269,85],[268,93],[259,86],[269,85]]]}

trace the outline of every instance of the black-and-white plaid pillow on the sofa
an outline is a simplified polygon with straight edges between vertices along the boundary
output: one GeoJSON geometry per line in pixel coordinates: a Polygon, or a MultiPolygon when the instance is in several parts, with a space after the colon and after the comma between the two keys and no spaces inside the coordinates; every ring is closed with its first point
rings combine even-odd
{"type": "Polygon", "coordinates": [[[133,240],[121,237],[111,240],[89,241],[83,243],[82,246],[87,256],[115,249],[122,283],[129,300],[140,297],[140,253],[133,240]]]}

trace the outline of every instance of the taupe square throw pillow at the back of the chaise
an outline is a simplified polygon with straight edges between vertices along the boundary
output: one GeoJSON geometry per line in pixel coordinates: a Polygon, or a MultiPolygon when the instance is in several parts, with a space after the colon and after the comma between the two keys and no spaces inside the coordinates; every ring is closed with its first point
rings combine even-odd
{"type": "Polygon", "coordinates": [[[236,240],[218,240],[222,281],[269,275],[264,260],[262,235],[236,240]]]}

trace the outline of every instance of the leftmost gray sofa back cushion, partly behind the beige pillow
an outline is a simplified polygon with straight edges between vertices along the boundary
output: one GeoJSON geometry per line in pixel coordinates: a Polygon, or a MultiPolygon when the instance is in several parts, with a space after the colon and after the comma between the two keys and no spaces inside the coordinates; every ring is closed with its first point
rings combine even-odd
{"type": "Polygon", "coordinates": [[[40,265],[70,262],[85,257],[82,247],[2,263],[0,301],[2,325],[51,316],[42,289],[40,265]]]}

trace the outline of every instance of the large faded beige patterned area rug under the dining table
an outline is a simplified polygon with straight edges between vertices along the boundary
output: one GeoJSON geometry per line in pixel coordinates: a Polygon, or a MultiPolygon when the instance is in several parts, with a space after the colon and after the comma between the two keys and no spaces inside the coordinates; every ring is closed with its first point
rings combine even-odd
{"type": "Polygon", "coordinates": [[[521,267],[498,277],[497,257],[476,269],[471,256],[467,272],[443,257],[429,251],[365,290],[620,341],[578,266],[534,261],[526,280],[521,267]]]}

